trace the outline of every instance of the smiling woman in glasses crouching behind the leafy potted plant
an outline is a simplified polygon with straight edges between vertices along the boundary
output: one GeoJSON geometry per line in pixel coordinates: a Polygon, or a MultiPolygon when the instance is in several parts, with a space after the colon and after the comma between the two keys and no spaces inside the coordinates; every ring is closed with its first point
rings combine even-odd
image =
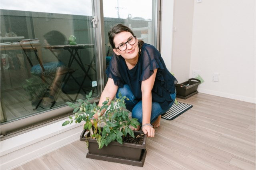
{"type": "MultiPolygon", "coordinates": [[[[126,108],[132,112],[132,118],[138,119],[148,137],[154,137],[154,127],[160,126],[161,114],[174,103],[177,80],[166,69],[157,49],[138,41],[130,28],[118,24],[110,29],[108,37],[114,55],[106,70],[109,78],[99,105],[121,92],[130,99],[126,108]]],[[[140,126],[132,128],[139,129],[140,126]]]]}

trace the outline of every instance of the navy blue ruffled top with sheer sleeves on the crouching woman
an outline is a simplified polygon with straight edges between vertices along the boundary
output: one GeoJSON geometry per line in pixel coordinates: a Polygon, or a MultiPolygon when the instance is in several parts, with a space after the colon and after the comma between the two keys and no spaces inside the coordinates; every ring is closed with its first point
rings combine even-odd
{"type": "Polygon", "coordinates": [[[175,92],[175,84],[178,81],[168,71],[161,54],[153,45],[146,43],[142,45],[138,63],[130,70],[124,58],[114,54],[106,74],[118,87],[123,87],[124,84],[129,85],[133,95],[141,99],[141,82],[148,79],[154,73],[154,69],[158,70],[152,89],[152,101],[159,103],[162,109],[168,109],[168,105],[172,102],[170,93],[175,92]]]}

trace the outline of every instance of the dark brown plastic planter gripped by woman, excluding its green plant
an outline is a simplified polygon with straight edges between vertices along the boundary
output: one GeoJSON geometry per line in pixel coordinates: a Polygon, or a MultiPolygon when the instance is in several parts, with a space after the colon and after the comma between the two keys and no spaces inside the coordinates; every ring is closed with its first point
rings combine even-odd
{"type": "MultiPolygon", "coordinates": [[[[86,137],[84,137],[85,132],[86,130],[84,129],[80,135],[81,141],[86,141],[86,137]]],[[[138,134],[144,133],[142,131],[134,131],[135,136],[138,134]]],[[[90,132],[87,134],[87,136],[90,136],[90,132]]],[[[89,152],[87,153],[86,158],[143,166],[144,160],[146,158],[146,138],[147,135],[144,136],[142,145],[126,142],[120,144],[118,142],[112,141],[108,144],[108,146],[103,146],[100,149],[98,149],[99,146],[96,139],[88,138],[89,152]]]]}

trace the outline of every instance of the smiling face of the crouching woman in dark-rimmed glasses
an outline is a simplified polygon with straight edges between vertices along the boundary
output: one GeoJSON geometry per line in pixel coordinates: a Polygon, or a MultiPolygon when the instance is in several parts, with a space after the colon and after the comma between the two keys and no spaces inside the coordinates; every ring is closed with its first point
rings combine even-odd
{"type": "MultiPolygon", "coordinates": [[[[116,34],[114,37],[114,44],[115,47],[118,47],[121,43],[127,42],[130,38],[132,38],[132,34],[130,32],[120,32],[116,34]]],[[[138,47],[138,40],[136,39],[136,43],[134,45],[130,45],[126,43],[126,50],[120,51],[120,49],[113,49],[116,55],[121,55],[124,59],[134,59],[139,55],[139,47],[138,47]]]]}

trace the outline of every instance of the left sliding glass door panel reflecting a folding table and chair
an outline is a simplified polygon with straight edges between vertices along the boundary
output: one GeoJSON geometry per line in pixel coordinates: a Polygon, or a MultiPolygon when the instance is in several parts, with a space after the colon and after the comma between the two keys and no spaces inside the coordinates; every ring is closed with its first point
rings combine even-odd
{"type": "Polygon", "coordinates": [[[66,102],[90,91],[98,99],[93,5],[1,0],[2,135],[72,113],[66,102]]]}

